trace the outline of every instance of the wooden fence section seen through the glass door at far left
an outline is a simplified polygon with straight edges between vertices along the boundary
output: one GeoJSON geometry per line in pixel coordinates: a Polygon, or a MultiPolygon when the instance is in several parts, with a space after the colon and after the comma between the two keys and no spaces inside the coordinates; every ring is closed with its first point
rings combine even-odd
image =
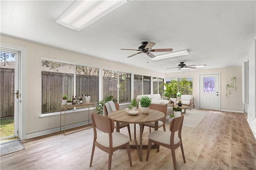
{"type": "Polygon", "coordinates": [[[0,68],[0,117],[14,116],[14,69],[0,68]]]}

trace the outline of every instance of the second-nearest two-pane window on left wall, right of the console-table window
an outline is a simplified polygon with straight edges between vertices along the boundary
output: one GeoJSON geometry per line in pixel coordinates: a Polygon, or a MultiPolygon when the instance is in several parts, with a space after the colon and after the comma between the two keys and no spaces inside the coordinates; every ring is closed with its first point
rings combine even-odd
{"type": "Polygon", "coordinates": [[[131,74],[103,70],[103,94],[114,96],[118,103],[131,101],[131,74]]]}

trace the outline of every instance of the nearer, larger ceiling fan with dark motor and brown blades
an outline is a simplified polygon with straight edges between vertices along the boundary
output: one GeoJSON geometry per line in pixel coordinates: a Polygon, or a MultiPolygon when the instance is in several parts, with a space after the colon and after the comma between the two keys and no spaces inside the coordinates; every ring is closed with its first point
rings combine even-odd
{"type": "Polygon", "coordinates": [[[128,57],[132,57],[132,56],[140,54],[140,53],[145,53],[146,55],[148,55],[148,57],[154,58],[156,56],[154,54],[152,54],[151,52],[169,52],[169,51],[172,51],[172,48],[151,49],[154,45],[156,45],[156,43],[150,42],[149,40],[143,40],[140,43],[142,45],[140,45],[140,47],[138,47],[138,49],[124,49],[124,50],[140,51],[140,52],[135,53],[133,55],[130,55],[128,57]]]}

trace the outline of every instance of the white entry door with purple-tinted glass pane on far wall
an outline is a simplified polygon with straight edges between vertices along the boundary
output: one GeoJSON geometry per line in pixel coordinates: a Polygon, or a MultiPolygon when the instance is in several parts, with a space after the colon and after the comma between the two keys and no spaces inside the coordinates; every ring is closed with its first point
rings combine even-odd
{"type": "Polygon", "coordinates": [[[200,75],[200,109],[220,110],[219,74],[200,75]]]}

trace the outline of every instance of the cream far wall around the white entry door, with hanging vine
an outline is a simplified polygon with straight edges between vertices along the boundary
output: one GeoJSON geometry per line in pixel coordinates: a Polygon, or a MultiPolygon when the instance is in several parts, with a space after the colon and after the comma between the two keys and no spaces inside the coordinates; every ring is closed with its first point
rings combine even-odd
{"type": "MultiPolygon", "coordinates": [[[[206,66],[207,67],[207,66],[206,66]]],[[[193,96],[195,107],[199,108],[199,87],[200,87],[200,74],[206,73],[220,73],[220,108],[225,111],[243,112],[242,103],[242,66],[241,67],[226,67],[219,69],[205,69],[200,70],[190,69],[190,71],[178,72],[178,73],[166,73],[166,78],[175,77],[192,77],[193,78],[193,96]],[[230,78],[236,77],[237,91],[233,91],[230,97],[226,98],[226,84],[230,83],[230,78]],[[229,105],[228,105],[229,103],[229,105]]]]}

